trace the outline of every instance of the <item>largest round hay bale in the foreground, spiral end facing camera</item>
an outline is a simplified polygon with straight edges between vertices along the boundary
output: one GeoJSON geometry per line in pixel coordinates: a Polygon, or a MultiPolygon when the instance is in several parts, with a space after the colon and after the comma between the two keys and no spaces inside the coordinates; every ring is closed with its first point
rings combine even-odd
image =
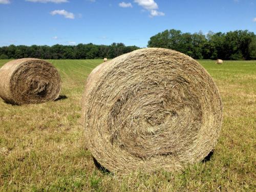
{"type": "Polygon", "coordinates": [[[203,160],[221,130],[222,103],[206,70],[177,51],[148,48],[116,57],[87,81],[87,147],[106,169],[181,169],[203,160]]]}

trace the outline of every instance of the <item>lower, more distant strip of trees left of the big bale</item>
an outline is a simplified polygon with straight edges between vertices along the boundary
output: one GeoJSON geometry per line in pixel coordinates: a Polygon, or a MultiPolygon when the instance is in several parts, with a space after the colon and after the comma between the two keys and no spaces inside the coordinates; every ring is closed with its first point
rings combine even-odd
{"type": "Polygon", "coordinates": [[[39,58],[39,59],[95,59],[115,58],[124,53],[139,49],[136,46],[125,46],[113,43],[110,46],[94,44],[78,44],[77,46],[5,46],[0,47],[0,59],[39,58]]]}

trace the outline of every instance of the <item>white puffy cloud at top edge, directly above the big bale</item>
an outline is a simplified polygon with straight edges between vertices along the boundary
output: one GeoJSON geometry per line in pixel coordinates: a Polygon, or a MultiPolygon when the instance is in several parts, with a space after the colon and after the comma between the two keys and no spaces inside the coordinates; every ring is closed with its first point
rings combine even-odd
{"type": "Polygon", "coordinates": [[[158,5],[154,0],[134,0],[143,9],[150,12],[150,17],[164,16],[165,14],[161,11],[157,11],[158,5]]]}

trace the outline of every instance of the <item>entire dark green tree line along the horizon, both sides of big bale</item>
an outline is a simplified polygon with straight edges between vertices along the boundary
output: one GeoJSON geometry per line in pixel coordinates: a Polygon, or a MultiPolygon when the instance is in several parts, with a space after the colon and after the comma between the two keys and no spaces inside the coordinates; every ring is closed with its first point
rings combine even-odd
{"type": "MultiPolygon", "coordinates": [[[[208,32],[182,33],[180,30],[165,30],[150,38],[147,47],[173,49],[195,59],[256,59],[256,35],[248,30],[227,33],[208,32]]],[[[110,46],[78,44],[76,46],[5,46],[0,47],[0,59],[33,57],[40,59],[95,59],[114,58],[136,49],[113,43],[110,46]]]]}

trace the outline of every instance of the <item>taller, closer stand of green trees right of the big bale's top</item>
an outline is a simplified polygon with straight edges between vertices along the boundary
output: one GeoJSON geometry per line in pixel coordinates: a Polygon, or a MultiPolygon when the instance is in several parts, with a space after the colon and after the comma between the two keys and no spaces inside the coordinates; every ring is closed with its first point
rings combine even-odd
{"type": "Polygon", "coordinates": [[[147,47],[173,49],[195,59],[256,59],[256,35],[248,30],[207,34],[165,30],[152,36],[147,47]]]}

